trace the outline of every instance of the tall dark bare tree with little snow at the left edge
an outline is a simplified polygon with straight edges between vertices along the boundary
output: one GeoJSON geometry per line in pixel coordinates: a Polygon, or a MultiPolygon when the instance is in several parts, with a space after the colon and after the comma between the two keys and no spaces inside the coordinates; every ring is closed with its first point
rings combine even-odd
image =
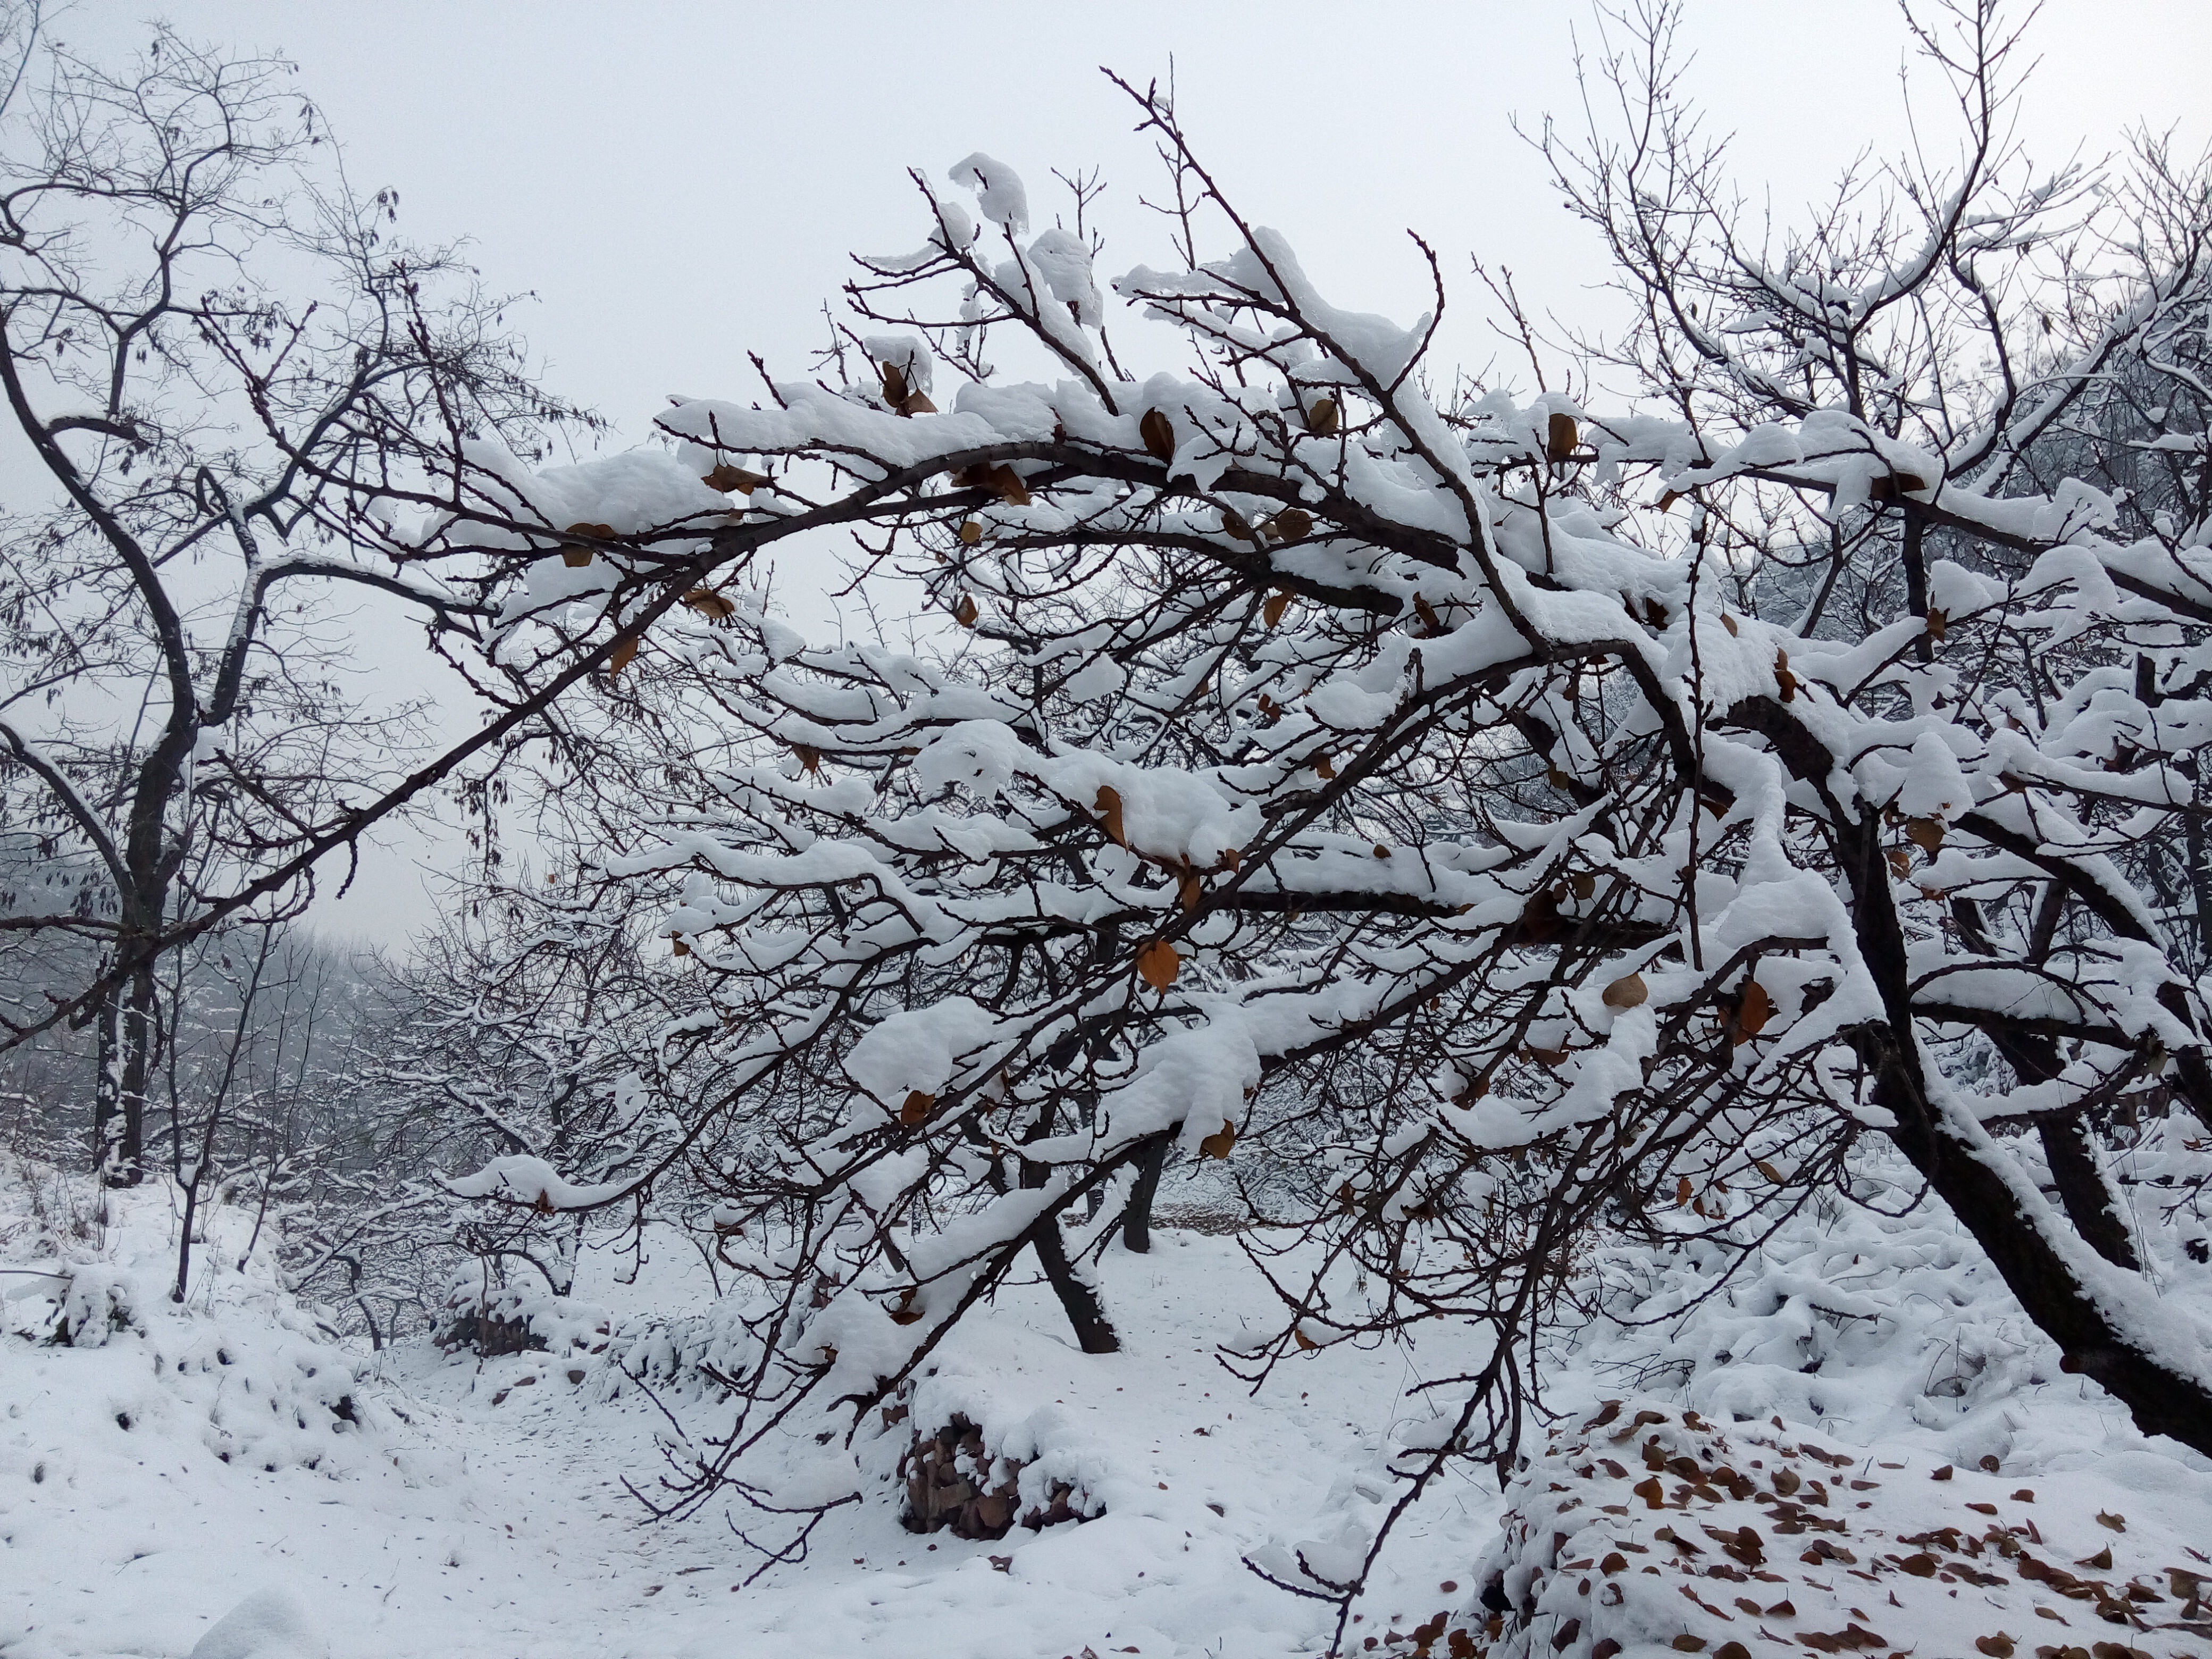
{"type": "MultiPolygon", "coordinates": [[[[482,805],[502,745],[619,648],[493,661],[495,595],[577,520],[619,538],[588,467],[560,500],[515,487],[593,420],[533,383],[456,250],[349,192],[288,64],[155,29],[106,69],[40,22],[0,11],[0,392],[31,469],[0,520],[0,832],[29,854],[0,1037],[95,1026],[97,1161],[131,1183],[164,953],[299,914],[319,858],[440,785],[482,805]],[[363,684],[341,606],[420,622],[498,699],[482,728],[431,743],[411,692],[363,684]]],[[[677,482],[624,522],[672,542],[675,575],[637,582],[668,604],[730,518],[677,482]]],[[[588,608],[611,568],[549,604],[588,608]]]]}

